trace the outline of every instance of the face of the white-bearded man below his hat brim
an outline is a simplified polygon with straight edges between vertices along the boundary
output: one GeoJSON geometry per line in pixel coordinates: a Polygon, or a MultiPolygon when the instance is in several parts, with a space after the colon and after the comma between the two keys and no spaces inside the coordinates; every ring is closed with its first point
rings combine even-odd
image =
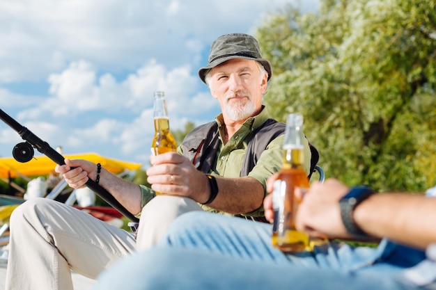
{"type": "Polygon", "coordinates": [[[210,93],[221,104],[224,118],[235,122],[256,115],[262,107],[267,74],[261,78],[256,61],[234,58],[212,68],[210,93]]]}

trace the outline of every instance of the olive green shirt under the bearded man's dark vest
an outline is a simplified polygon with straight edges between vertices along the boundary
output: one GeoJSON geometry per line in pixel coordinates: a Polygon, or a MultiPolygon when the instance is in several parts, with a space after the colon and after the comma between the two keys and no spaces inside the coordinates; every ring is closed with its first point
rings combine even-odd
{"type": "MultiPolygon", "coordinates": [[[[217,115],[215,118],[218,129],[219,136],[221,140],[221,145],[217,152],[217,161],[212,165],[211,172],[212,175],[218,175],[221,177],[239,177],[240,170],[242,168],[242,161],[244,160],[244,154],[247,150],[247,145],[249,143],[249,133],[256,130],[260,125],[262,125],[266,120],[270,118],[267,108],[264,107],[263,110],[256,116],[248,118],[242,127],[228,140],[226,145],[222,143],[223,136],[225,132],[224,118],[222,114],[217,115]]],[[[265,195],[266,192],[266,181],[268,177],[273,175],[281,168],[282,158],[283,158],[283,138],[284,134],[272,140],[272,142],[267,146],[266,150],[258,159],[256,166],[253,170],[249,172],[249,177],[253,177],[263,185],[265,195]]],[[[309,174],[310,164],[311,164],[311,152],[309,149],[309,143],[306,138],[304,143],[304,168],[309,174]]],[[[178,152],[182,154],[182,150],[178,147],[178,152]]],[[[154,198],[155,193],[152,189],[146,186],[141,186],[142,202],[143,207],[147,202],[154,198]]],[[[214,211],[221,214],[226,214],[215,209],[211,209],[205,205],[201,205],[205,211],[214,211]]],[[[263,207],[246,214],[247,216],[263,216],[263,207]]]]}

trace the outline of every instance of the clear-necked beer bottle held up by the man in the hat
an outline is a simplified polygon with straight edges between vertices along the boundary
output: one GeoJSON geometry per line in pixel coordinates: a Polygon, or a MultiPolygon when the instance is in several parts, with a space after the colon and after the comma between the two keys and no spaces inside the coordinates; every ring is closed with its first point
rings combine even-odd
{"type": "MultiPolygon", "coordinates": [[[[166,110],[164,92],[154,92],[155,104],[153,117],[155,119],[155,136],[151,143],[151,154],[158,155],[177,150],[176,139],[169,131],[168,111],[166,110]]],[[[162,194],[162,193],[156,193],[162,194]]]]}

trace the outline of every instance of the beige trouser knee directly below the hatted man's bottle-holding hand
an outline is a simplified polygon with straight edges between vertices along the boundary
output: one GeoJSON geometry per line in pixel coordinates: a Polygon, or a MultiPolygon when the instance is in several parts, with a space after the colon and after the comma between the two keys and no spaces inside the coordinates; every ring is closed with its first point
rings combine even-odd
{"type": "Polygon", "coordinates": [[[157,244],[169,225],[181,214],[202,210],[197,202],[190,198],[157,195],[141,211],[137,232],[138,250],[147,250],[157,244]]]}

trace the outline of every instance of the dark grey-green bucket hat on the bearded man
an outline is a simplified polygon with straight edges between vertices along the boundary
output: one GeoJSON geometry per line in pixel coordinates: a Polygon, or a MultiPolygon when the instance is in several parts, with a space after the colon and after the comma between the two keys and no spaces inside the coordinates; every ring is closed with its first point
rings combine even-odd
{"type": "Polygon", "coordinates": [[[219,36],[210,46],[209,63],[198,70],[198,76],[205,83],[205,75],[212,67],[232,58],[244,58],[258,61],[268,73],[268,81],[272,76],[271,63],[260,54],[259,42],[251,35],[231,33],[219,36]]]}

